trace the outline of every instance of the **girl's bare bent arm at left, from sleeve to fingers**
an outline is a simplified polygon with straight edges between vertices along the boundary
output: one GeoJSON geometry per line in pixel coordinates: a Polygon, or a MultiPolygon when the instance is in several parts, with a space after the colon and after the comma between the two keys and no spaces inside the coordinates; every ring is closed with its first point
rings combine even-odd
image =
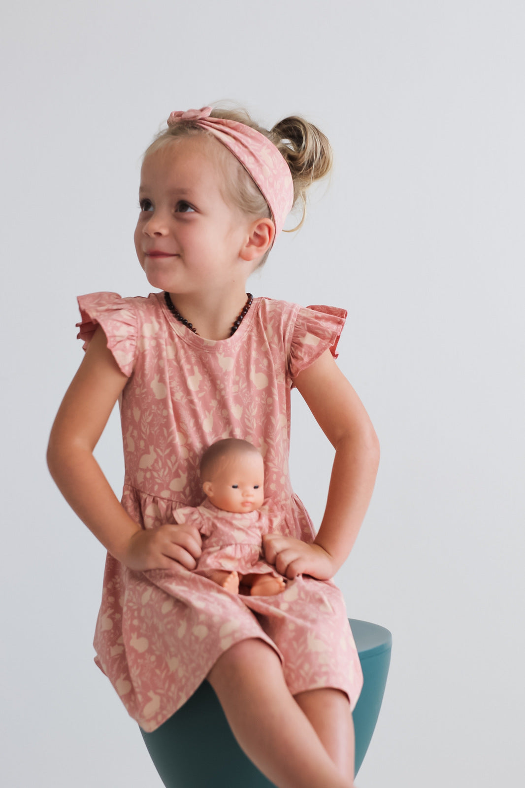
{"type": "Polygon", "coordinates": [[[121,506],[94,459],[94,447],[127,382],[99,327],[51,429],[50,473],[79,518],[126,566],[167,569],[176,561],[194,569],[201,554],[198,530],[189,525],[142,530],[121,506]]]}

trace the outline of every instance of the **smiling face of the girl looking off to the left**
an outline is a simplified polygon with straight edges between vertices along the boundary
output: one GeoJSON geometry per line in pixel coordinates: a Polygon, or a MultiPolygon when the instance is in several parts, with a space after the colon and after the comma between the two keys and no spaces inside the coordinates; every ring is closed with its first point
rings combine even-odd
{"type": "Polygon", "coordinates": [[[224,201],[213,144],[220,143],[177,139],[142,164],[135,249],[148,281],[161,290],[220,291],[250,273],[239,258],[250,221],[224,201]]]}

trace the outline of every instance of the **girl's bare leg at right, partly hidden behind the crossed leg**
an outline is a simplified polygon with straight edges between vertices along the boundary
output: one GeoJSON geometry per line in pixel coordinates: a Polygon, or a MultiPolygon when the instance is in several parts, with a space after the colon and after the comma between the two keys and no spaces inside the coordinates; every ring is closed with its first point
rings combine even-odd
{"type": "Polygon", "coordinates": [[[331,760],[342,775],[353,779],[353,718],[348,697],[340,689],[310,689],[294,696],[331,760]]]}

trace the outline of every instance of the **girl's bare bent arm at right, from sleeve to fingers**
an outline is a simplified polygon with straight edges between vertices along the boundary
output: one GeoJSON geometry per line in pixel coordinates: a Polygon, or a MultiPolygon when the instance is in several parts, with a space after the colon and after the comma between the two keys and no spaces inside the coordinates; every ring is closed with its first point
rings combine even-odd
{"type": "Polygon", "coordinates": [[[330,351],[298,374],[294,383],[335,448],[327,505],[312,545],[272,534],[264,537],[264,552],[287,578],[304,573],[327,580],[345,562],[357,539],[374,489],[379,441],[330,351]]]}

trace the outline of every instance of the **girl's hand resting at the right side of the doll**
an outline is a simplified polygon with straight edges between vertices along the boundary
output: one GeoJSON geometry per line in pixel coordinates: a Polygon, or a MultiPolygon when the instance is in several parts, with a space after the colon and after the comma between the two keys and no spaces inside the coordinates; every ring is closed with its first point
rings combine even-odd
{"type": "Polygon", "coordinates": [[[294,537],[265,533],[262,537],[264,557],[283,577],[293,580],[298,574],[310,574],[317,580],[329,580],[335,563],[320,545],[307,545],[294,537]]]}

